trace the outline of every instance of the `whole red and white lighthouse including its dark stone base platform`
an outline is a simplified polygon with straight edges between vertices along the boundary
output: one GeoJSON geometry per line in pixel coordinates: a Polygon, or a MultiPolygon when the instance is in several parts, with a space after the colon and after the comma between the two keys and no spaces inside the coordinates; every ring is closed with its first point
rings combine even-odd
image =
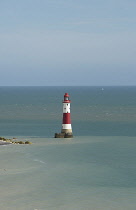
{"type": "Polygon", "coordinates": [[[61,133],[55,133],[55,138],[72,138],[69,94],[65,93],[63,100],[63,119],[61,133]]]}

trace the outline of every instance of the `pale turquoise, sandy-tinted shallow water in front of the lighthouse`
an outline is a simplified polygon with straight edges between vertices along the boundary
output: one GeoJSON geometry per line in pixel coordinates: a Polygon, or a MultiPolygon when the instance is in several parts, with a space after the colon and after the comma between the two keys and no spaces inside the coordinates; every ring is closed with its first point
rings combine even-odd
{"type": "Polygon", "coordinates": [[[134,137],[29,140],[0,147],[0,209],[135,210],[134,137]]]}

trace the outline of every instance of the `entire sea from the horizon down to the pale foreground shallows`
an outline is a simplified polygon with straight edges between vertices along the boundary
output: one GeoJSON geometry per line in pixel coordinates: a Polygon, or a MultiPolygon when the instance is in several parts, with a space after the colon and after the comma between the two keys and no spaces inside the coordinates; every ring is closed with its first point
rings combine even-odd
{"type": "Polygon", "coordinates": [[[1,210],[135,210],[136,87],[0,87],[1,210]],[[71,99],[73,138],[61,131],[71,99]]]}

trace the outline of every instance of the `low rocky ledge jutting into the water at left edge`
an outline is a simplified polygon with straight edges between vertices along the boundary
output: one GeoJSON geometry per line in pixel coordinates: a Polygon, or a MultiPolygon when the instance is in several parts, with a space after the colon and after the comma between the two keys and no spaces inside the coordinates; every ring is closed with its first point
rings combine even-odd
{"type": "Polygon", "coordinates": [[[4,137],[0,137],[0,145],[7,145],[7,144],[32,144],[30,141],[16,141],[16,138],[13,139],[6,139],[4,137]]]}

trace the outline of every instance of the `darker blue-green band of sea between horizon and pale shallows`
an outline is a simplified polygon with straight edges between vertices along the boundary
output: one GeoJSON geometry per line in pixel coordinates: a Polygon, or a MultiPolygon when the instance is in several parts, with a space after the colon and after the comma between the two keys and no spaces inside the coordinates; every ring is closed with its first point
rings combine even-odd
{"type": "Polygon", "coordinates": [[[0,135],[53,137],[65,92],[75,136],[136,136],[136,87],[0,87],[0,135]]]}

